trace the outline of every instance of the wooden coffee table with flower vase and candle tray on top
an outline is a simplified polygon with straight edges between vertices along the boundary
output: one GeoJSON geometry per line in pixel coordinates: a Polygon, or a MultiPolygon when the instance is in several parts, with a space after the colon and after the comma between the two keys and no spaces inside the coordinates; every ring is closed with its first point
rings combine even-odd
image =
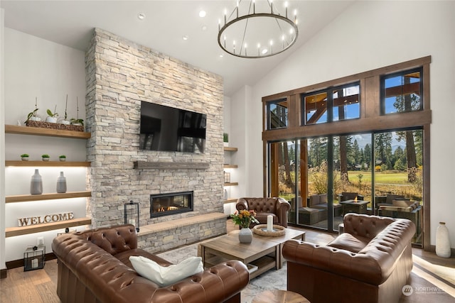
{"type": "Polygon", "coordinates": [[[225,260],[240,260],[245,265],[253,265],[257,270],[250,272],[250,279],[276,268],[282,268],[282,246],[284,242],[299,238],[305,240],[305,232],[296,229],[286,229],[283,236],[268,237],[253,233],[252,243],[240,243],[238,232],[214,238],[200,243],[198,255],[203,265],[210,267],[225,260]]]}

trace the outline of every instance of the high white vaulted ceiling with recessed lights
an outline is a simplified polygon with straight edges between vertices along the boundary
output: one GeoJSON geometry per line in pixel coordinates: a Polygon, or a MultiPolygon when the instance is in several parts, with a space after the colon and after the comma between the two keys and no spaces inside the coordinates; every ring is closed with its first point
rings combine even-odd
{"type": "MultiPolygon", "coordinates": [[[[260,2],[264,0],[256,0],[257,7],[260,2]]],[[[282,14],[284,2],[273,1],[282,14]]],[[[223,20],[225,9],[228,12],[234,9],[235,1],[2,0],[0,7],[5,10],[7,28],[78,50],[87,50],[92,28],[102,28],[223,76],[224,94],[230,96],[243,85],[254,85],[353,3],[341,0],[287,2],[291,11],[297,11],[299,38],[284,53],[259,59],[229,55],[218,45],[218,21],[223,20]],[[205,17],[199,16],[201,10],[206,12],[205,17]],[[139,13],[145,18],[139,19],[139,13]]]]}

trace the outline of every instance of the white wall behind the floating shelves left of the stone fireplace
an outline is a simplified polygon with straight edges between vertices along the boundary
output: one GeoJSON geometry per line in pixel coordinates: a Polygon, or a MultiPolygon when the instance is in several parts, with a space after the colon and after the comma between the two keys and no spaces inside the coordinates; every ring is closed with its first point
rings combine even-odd
{"type": "MultiPolygon", "coordinates": [[[[11,28],[5,28],[2,38],[5,64],[1,67],[4,72],[1,80],[4,80],[5,90],[4,98],[0,98],[1,126],[17,125],[18,121],[25,125],[23,122],[26,121],[27,114],[35,108],[36,97],[38,114],[43,120],[47,116],[45,110],[54,111],[55,105],[59,117],[63,118],[66,94],[68,118],[77,116],[77,97],[79,118],[85,119],[85,53],[11,28]]],[[[3,137],[3,128],[1,130],[0,136],[3,137]]],[[[0,154],[4,153],[6,160],[19,160],[22,153],[31,155],[31,160],[41,160],[41,155],[47,153],[51,160],[57,160],[58,155],[65,154],[68,161],[85,161],[83,140],[6,134],[5,141],[5,144],[1,144],[0,154]]],[[[43,192],[55,192],[56,180],[61,170],[67,177],[68,191],[85,190],[85,167],[6,167],[5,170],[4,159],[0,157],[0,160],[1,173],[5,173],[5,179],[0,175],[2,227],[18,226],[17,219],[21,216],[42,216],[65,211],[73,211],[76,218],[85,216],[85,198],[6,205],[3,199],[4,194],[28,194],[35,168],[39,168],[43,177],[43,192]]],[[[50,253],[50,243],[57,232],[62,231],[5,238],[4,230],[1,230],[0,265],[3,265],[3,261],[22,259],[23,251],[28,246],[36,245],[38,236],[44,236],[46,253],[50,253]]]]}

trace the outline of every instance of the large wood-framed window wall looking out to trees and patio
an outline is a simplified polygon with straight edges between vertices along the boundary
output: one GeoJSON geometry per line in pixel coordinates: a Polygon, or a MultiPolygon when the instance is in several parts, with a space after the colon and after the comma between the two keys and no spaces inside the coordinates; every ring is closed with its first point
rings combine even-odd
{"type": "Polygon", "coordinates": [[[289,201],[289,224],[336,231],[349,211],[403,217],[416,222],[412,243],[429,249],[430,62],[422,57],[262,98],[272,113],[262,133],[264,197],[289,201]],[[279,111],[270,104],[284,106],[286,127],[272,124],[279,111]],[[412,209],[390,211],[393,199],[392,206],[382,201],[389,196],[412,209]]]}

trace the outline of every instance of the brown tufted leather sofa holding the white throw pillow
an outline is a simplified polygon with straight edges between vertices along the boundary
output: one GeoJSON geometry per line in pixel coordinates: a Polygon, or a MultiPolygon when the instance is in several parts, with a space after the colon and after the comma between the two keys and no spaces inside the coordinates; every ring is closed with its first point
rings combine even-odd
{"type": "Polygon", "coordinates": [[[240,302],[248,284],[247,267],[237,260],[159,287],[132,268],[129,256],[140,255],[161,266],[171,265],[137,248],[132,225],[64,233],[54,238],[58,258],[57,294],[61,302],[240,302]]]}

